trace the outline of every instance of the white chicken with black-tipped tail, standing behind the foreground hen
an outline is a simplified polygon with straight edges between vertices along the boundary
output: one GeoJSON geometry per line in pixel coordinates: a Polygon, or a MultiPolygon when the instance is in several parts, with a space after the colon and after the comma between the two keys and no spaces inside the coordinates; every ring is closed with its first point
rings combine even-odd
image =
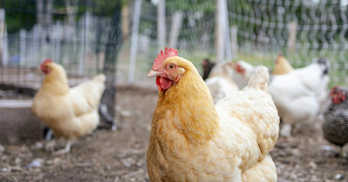
{"type": "Polygon", "coordinates": [[[284,122],[280,135],[289,137],[296,123],[310,121],[318,115],[322,95],[326,93],[329,68],[327,59],[317,58],[306,67],[272,76],[269,93],[284,122]]]}

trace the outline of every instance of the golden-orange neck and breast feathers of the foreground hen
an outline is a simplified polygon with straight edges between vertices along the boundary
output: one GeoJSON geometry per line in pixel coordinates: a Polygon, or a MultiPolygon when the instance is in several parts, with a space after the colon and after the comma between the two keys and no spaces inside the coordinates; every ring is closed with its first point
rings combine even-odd
{"type": "Polygon", "coordinates": [[[193,65],[159,93],[153,122],[158,130],[176,130],[191,144],[205,143],[217,133],[219,117],[212,96],[193,65]]]}

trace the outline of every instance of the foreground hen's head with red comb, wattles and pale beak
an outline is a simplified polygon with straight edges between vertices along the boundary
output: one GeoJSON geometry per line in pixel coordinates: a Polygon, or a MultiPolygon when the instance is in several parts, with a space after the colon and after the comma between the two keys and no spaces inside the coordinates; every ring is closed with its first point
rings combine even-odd
{"type": "Polygon", "coordinates": [[[156,85],[160,92],[168,89],[173,83],[177,83],[185,72],[179,61],[169,59],[169,57],[176,57],[177,55],[178,51],[173,48],[168,49],[166,47],[164,52],[161,50],[148,73],[148,77],[157,76],[156,85]]]}

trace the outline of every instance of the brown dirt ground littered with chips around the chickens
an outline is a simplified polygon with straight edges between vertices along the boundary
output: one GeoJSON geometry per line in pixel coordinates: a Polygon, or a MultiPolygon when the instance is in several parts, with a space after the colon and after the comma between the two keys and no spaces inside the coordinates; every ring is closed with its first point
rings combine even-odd
{"type": "MultiPolygon", "coordinates": [[[[149,181],[146,149],[157,91],[117,89],[118,130],[97,130],[78,139],[70,154],[53,156],[45,142],[4,146],[0,181],[149,181]],[[129,112],[130,111],[130,112],[129,112]]],[[[64,146],[59,140],[58,147],[64,146]]],[[[279,138],[270,152],[278,181],[348,181],[348,160],[325,141],[321,121],[301,123],[294,137],[279,138]]]]}

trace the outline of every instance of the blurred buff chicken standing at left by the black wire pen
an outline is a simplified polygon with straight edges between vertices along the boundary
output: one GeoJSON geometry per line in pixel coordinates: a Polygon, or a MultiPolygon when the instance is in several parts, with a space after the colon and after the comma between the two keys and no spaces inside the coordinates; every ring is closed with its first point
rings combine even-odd
{"type": "Polygon", "coordinates": [[[63,66],[46,60],[41,70],[46,77],[34,96],[32,111],[56,137],[69,139],[65,149],[59,151],[54,151],[55,140],[46,145],[53,154],[64,154],[70,151],[73,139],[91,133],[98,126],[98,105],[106,78],[99,74],[70,88],[63,66]]]}

